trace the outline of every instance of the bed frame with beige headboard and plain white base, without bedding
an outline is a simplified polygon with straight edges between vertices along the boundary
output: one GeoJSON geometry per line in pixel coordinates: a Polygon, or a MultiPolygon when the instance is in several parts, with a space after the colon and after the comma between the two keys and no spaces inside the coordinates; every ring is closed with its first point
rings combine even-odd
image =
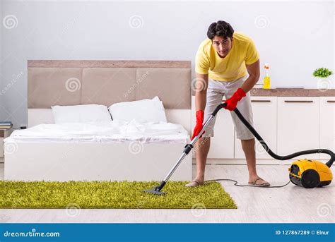
{"type": "MultiPolygon", "coordinates": [[[[158,96],[167,121],[191,131],[191,61],[28,61],[28,127],[51,106],[158,96]]],[[[160,181],[186,143],[5,142],[4,177],[19,181],[160,181]]],[[[192,153],[192,152],[191,152],[192,153]]],[[[192,179],[192,154],[171,180],[192,179]]]]}

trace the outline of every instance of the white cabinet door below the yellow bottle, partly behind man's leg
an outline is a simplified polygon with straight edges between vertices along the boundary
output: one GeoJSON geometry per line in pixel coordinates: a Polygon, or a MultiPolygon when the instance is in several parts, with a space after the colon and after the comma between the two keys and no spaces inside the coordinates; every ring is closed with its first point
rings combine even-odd
{"type": "MultiPolygon", "coordinates": [[[[277,97],[251,97],[252,113],[254,114],[254,129],[269,145],[270,149],[277,151],[277,97]]],[[[258,159],[272,159],[255,138],[255,152],[258,159]]],[[[241,141],[235,138],[235,158],[245,159],[241,141]]]]}

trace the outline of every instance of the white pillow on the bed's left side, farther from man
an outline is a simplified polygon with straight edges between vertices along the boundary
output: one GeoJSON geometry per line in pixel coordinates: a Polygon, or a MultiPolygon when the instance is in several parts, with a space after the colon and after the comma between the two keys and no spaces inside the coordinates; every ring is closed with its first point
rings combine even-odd
{"type": "Polygon", "coordinates": [[[52,106],[54,123],[99,123],[111,122],[112,118],[105,105],[84,104],[74,106],[52,106]]]}

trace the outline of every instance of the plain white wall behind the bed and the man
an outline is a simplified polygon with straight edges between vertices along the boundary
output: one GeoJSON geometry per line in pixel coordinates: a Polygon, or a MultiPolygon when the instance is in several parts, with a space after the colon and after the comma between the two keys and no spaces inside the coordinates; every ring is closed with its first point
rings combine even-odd
{"type": "Polygon", "coordinates": [[[192,60],[194,66],[196,49],[216,20],[254,39],[261,63],[271,65],[274,87],[317,88],[312,71],[334,66],[333,6],[333,1],[3,1],[3,17],[18,19],[16,28],[1,25],[2,90],[10,84],[4,101],[11,115],[4,118],[26,125],[28,59],[192,60]]]}

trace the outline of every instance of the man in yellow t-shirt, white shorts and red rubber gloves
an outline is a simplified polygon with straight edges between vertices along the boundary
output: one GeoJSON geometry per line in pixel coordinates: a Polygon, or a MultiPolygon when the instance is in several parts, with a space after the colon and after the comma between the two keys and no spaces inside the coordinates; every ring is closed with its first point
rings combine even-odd
{"type": "MultiPolygon", "coordinates": [[[[235,126],[236,136],[241,140],[242,150],[247,159],[249,184],[254,186],[270,186],[261,179],[256,171],[254,152],[254,135],[238,119],[233,110],[237,107],[249,123],[252,122],[252,107],[249,90],[259,80],[259,53],[251,38],[234,32],[229,23],[218,21],[212,23],[207,32],[206,40],[201,42],[196,53],[196,80],[202,82],[203,90],[196,90],[196,126],[192,139],[203,128],[213,110],[221,104],[225,95],[227,106],[235,126]],[[248,78],[245,76],[249,74],[248,78]]],[[[188,183],[188,187],[204,184],[206,159],[213,137],[216,118],[206,128],[195,144],[196,147],[196,178],[188,183]]],[[[219,133],[218,135],[225,135],[219,133]]],[[[224,145],[224,144],[222,144],[224,145]]]]}

